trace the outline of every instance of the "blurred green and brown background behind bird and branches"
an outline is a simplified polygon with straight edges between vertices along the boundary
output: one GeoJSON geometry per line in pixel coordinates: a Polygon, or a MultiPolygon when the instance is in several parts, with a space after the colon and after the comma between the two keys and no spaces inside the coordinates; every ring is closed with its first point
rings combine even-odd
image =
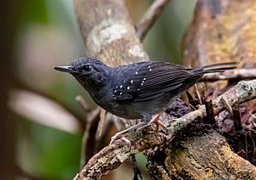
{"type": "MultiPolygon", "coordinates": [[[[152,2],[126,0],[135,24],[152,2]]],[[[182,36],[194,7],[195,0],[170,1],[143,42],[150,59],[181,63],[182,36]]],[[[55,65],[86,55],[73,1],[23,0],[2,8],[7,14],[3,25],[9,28],[1,30],[2,42],[7,43],[1,45],[5,63],[0,103],[1,107],[8,104],[8,109],[3,106],[0,111],[1,166],[13,160],[17,179],[73,179],[79,172],[84,128],[84,110],[75,98],[81,95],[90,107],[96,107],[72,76],[53,70],[55,65]]],[[[143,155],[137,160],[145,172],[143,155]]],[[[129,165],[113,173],[115,179],[133,177],[129,165]]]]}

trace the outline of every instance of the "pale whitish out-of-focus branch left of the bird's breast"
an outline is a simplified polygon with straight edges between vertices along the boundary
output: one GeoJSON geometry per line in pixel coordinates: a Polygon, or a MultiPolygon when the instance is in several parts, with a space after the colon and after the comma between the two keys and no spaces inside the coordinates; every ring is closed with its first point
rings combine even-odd
{"type": "Polygon", "coordinates": [[[11,91],[9,93],[9,108],[17,115],[30,118],[32,121],[37,121],[48,127],[75,134],[83,130],[76,117],[61,104],[37,93],[20,89],[11,91]]]}

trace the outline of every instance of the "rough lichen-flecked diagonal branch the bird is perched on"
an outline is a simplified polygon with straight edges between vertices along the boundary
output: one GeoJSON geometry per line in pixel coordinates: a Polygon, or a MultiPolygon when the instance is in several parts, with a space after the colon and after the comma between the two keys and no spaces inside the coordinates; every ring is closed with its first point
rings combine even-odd
{"type": "MultiPolygon", "coordinates": [[[[235,87],[230,88],[229,91],[214,99],[212,104],[215,115],[221,110],[224,110],[224,104],[222,104],[221,100],[223,98],[230,104],[230,106],[241,104],[256,98],[256,80],[239,82],[235,87]]],[[[154,125],[127,134],[126,138],[130,139],[132,142],[130,148],[127,144],[122,143],[121,140],[115,141],[113,144],[108,145],[98,154],[94,155],[74,179],[99,179],[102,175],[106,175],[111,170],[120,166],[131,155],[146,149],[154,149],[156,146],[160,147],[166,143],[170,143],[177,132],[185,129],[191,122],[197,121],[205,116],[205,107],[201,106],[198,110],[183,115],[183,117],[178,118],[175,121],[173,119],[168,119],[167,122],[165,122],[167,130],[166,134],[163,132],[149,131],[153,130],[154,125]]]]}

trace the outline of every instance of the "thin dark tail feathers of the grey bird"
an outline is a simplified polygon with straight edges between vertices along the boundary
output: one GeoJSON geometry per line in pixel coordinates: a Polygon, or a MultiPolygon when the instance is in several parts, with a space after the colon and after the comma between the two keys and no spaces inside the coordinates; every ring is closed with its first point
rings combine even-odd
{"type": "Polygon", "coordinates": [[[239,62],[229,62],[229,63],[218,63],[218,64],[213,64],[213,65],[205,65],[200,68],[196,68],[196,69],[192,70],[192,72],[195,76],[203,75],[203,74],[207,74],[207,73],[213,73],[213,72],[224,72],[225,70],[236,69],[237,65],[239,65],[239,62]]]}

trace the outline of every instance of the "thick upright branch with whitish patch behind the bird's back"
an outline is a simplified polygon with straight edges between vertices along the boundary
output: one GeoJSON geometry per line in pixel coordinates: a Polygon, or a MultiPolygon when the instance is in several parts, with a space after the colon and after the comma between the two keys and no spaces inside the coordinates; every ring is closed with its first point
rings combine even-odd
{"type": "Polygon", "coordinates": [[[148,60],[122,0],[74,0],[87,55],[110,66],[148,60]]]}

